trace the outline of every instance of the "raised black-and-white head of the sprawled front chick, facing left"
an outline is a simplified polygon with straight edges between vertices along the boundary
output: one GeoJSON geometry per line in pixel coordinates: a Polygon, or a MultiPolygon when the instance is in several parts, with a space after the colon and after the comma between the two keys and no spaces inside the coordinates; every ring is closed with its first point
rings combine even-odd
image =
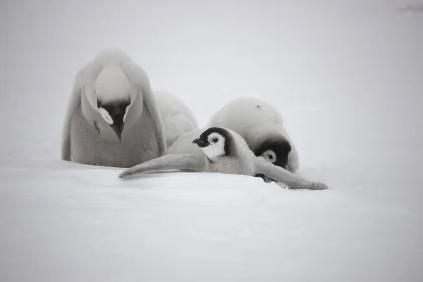
{"type": "Polygon", "coordinates": [[[200,147],[207,158],[212,160],[231,153],[231,133],[224,128],[208,128],[192,143],[200,147]]]}

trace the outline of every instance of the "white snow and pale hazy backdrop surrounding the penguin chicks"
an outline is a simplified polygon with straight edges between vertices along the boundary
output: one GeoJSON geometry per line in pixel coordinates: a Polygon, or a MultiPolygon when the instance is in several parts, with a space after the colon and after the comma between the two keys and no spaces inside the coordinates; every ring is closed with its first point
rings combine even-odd
{"type": "Polygon", "coordinates": [[[422,1],[98,5],[0,4],[0,281],[422,281],[422,1]],[[74,75],[109,47],[200,125],[271,102],[331,189],[60,161],[74,75]]]}

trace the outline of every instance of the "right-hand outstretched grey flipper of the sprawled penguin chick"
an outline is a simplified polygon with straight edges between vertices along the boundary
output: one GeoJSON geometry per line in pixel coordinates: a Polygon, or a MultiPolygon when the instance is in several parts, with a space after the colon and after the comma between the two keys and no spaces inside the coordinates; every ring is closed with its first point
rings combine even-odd
{"type": "Polygon", "coordinates": [[[301,178],[281,166],[275,166],[263,157],[255,158],[255,174],[263,174],[276,182],[288,185],[291,189],[309,189],[309,190],[326,190],[328,187],[324,183],[309,181],[301,178]]]}

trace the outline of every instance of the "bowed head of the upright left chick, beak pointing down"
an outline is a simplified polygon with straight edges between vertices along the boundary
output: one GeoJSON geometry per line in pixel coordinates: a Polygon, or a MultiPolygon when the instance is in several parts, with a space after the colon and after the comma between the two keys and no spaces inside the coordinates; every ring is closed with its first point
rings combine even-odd
{"type": "Polygon", "coordinates": [[[94,83],[97,110],[108,123],[119,142],[131,106],[131,85],[119,67],[104,67],[94,83]]]}

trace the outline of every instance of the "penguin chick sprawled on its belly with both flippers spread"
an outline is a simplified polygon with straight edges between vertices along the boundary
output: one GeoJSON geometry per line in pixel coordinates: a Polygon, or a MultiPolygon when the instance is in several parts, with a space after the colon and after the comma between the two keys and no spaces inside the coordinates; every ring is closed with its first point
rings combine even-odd
{"type": "Polygon", "coordinates": [[[238,133],[227,128],[200,128],[183,134],[166,154],[128,168],[120,178],[137,173],[180,169],[257,176],[263,174],[290,188],[324,190],[324,183],[300,178],[300,176],[275,166],[263,157],[256,157],[238,133]]]}

